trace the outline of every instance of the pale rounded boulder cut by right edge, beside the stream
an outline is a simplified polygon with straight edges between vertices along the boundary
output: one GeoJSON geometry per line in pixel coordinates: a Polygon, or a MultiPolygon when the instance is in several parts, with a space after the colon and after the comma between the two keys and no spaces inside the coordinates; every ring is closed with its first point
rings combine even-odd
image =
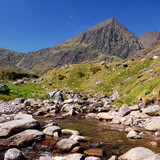
{"type": "Polygon", "coordinates": [[[160,116],[152,117],[150,122],[145,126],[146,130],[159,131],[160,130],[160,116]]]}

